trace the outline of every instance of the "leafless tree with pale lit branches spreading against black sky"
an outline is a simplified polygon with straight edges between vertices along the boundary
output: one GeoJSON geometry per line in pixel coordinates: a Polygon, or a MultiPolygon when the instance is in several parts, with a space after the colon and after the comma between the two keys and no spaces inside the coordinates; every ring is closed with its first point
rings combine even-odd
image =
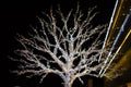
{"type": "Polygon", "coordinates": [[[82,82],[84,75],[98,77],[105,60],[98,58],[107,52],[100,48],[106,25],[92,26],[95,15],[94,8],[83,15],[79,7],[67,15],[60,9],[44,13],[46,18],[38,17],[40,27],[32,27],[31,37],[17,37],[24,49],[15,50],[20,58],[13,60],[21,62],[15,72],[41,75],[40,82],[53,73],[63,79],[64,87],[71,87],[76,78],[82,82]]]}

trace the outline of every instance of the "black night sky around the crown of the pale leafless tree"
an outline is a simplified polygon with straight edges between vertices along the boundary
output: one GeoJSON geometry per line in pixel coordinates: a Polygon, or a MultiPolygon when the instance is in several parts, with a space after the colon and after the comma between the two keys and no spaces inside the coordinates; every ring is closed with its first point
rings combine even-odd
{"type": "MultiPolygon", "coordinates": [[[[109,23],[115,1],[116,0],[1,0],[0,2],[0,85],[3,87],[13,87],[19,77],[10,74],[9,70],[12,66],[8,55],[13,53],[16,48],[16,40],[14,39],[17,33],[27,33],[27,28],[31,24],[35,23],[36,15],[40,12],[48,11],[50,7],[56,8],[61,5],[63,12],[68,12],[71,8],[80,2],[81,9],[86,11],[87,7],[97,5],[99,14],[95,17],[95,24],[109,23]]],[[[52,78],[56,76],[52,75],[52,78]]],[[[34,78],[37,79],[37,78],[34,78]]],[[[58,78],[59,79],[59,78],[58,78]]],[[[21,84],[27,84],[28,79],[20,79],[21,84]]],[[[48,79],[47,79],[48,80],[48,79]]],[[[38,80],[28,82],[36,87],[38,80]]],[[[57,83],[57,78],[55,79],[57,83]]],[[[53,82],[53,84],[55,84],[53,82]]],[[[47,82],[49,83],[49,82],[47,82]]],[[[59,83],[59,82],[58,82],[59,83]]],[[[51,83],[50,83],[51,84],[51,83]]],[[[17,84],[19,85],[19,84],[17,84]]],[[[24,85],[23,85],[24,86],[24,85]]],[[[43,87],[50,87],[51,85],[43,87]]],[[[58,85],[55,85],[57,87],[58,85]]],[[[27,87],[24,86],[24,87],[27,87]]]]}

